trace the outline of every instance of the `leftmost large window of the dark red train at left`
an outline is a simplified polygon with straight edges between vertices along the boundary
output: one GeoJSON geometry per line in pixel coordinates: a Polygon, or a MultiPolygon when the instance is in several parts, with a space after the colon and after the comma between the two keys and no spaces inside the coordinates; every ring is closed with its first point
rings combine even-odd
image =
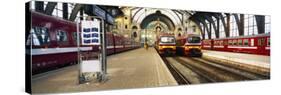
{"type": "Polygon", "coordinates": [[[48,44],[50,42],[48,29],[44,27],[32,27],[27,42],[27,45],[32,42],[35,46],[48,44]],[[32,41],[30,39],[32,39],[32,41]]]}

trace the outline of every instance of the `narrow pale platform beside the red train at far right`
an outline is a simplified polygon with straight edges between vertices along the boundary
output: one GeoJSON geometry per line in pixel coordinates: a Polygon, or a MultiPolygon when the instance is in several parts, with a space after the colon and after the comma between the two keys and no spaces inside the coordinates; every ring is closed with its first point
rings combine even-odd
{"type": "Polygon", "coordinates": [[[270,56],[213,50],[202,50],[202,52],[202,58],[205,59],[212,59],[263,74],[270,73],[270,56]]]}

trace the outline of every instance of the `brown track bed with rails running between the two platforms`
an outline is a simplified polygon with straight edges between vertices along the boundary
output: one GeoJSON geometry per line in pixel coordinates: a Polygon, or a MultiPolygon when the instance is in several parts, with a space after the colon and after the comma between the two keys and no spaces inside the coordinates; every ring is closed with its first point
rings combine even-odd
{"type": "Polygon", "coordinates": [[[179,84],[262,80],[269,78],[268,76],[258,75],[202,58],[162,57],[162,59],[179,84]]]}

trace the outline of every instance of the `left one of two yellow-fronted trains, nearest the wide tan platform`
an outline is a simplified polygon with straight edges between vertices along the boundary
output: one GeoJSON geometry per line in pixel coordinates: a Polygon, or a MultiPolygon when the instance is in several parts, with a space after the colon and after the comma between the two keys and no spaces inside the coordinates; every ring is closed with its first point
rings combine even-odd
{"type": "Polygon", "coordinates": [[[176,54],[176,38],[172,34],[160,34],[157,37],[156,49],[160,55],[176,54]]]}

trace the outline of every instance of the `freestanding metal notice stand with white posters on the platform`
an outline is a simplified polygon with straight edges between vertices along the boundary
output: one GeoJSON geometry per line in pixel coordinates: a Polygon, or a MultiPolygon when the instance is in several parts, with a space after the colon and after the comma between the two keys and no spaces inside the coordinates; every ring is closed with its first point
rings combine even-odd
{"type": "MultiPolygon", "coordinates": [[[[106,40],[104,31],[104,19],[99,16],[82,16],[85,20],[77,22],[77,47],[78,47],[78,80],[79,84],[91,81],[96,77],[99,82],[106,81],[106,40]],[[81,37],[81,38],[80,38],[81,37]],[[81,40],[80,40],[81,39],[81,40]],[[81,52],[80,45],[98,45],[99,51],[81,52]],[[98,58],[93,56],[98,54],[98,58]],[[90,78],[91,76],[91,78],[90,78]]],[[[78,17],[80,18],[80,17],[78,17]]]]}

